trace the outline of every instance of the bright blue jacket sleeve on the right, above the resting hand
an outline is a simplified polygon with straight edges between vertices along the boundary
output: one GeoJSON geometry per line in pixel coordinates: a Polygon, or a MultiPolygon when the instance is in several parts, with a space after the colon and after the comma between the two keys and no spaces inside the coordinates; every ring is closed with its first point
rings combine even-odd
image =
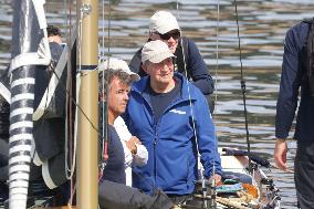
{"type": "Polygon", "coordinates": [[[205,169],[205,177],[209,178],[213,173],[221,175],[221,160],[218,153],[216,130],[207,101],[201,93],[193,105],[196,135],[198,149],[201,155],[200,161],[205,169]]]}

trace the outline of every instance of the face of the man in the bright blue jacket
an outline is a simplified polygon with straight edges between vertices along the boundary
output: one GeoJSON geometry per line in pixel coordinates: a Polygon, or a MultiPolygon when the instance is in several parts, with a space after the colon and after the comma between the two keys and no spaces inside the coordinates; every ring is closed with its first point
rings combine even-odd
{"type": "Polygon", "coordinates": [[[161,85],[167,85],[172,82],[174,77],[174,63],[172,59],[168,58],[160,63],[146,62],[144,71],[150,75],[150,81],[161,85]]]}

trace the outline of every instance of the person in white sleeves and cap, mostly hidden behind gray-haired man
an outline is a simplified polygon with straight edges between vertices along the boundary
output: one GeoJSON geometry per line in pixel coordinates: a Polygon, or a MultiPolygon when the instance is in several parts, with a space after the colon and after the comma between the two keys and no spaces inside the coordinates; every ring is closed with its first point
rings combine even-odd
{"type": "MultiPolygon", "coordinates": [[[[103,62],[98,67],[101,72],[107,69],[113,70],[113,71],[125,72],[127,75],[129,75],[130,82],[135,82],[139,80],[138,74],[133,73],[129,70],[127,63],[123,60],[111,58],[106,60],[105,62],[103,62]]],[[[103,91],[104,90],[100,90],[100,92],[103,92],[103,91]]],[[[111,111],[112,109],[108,109],[108,112],[111,111]]],[[[145,146],[140,145],[140,140],[136,136],[130,135],[129,130],[127,129],[127,126],[125,125],[121,116],[117,116],[117,118],[115,118],[113,125],[118,134],[119,139],[122,140],[122,145],[124,149],[126,186],[132,187],[132,165],[136,165],[136,166],[145,165],[148,159],[148,153],[145,146]]]]}

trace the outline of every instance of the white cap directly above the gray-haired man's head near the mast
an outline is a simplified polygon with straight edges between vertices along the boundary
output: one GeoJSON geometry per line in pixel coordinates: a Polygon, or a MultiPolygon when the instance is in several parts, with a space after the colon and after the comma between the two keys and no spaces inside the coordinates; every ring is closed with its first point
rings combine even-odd
{"type": "Polygon", "coordinates": [[[98,71],[102,72],[104,70],[114,70],[114,71],[124,71],[127,74],[129,74],[132,81],[138,81],[140,80],[139,75],[132,72],[127,65],[127,63],[123,60],[116,59],[116,58],[109,58],[108,60],[106,60],[105,62],[101,63],[98,66],[98,71]]]}

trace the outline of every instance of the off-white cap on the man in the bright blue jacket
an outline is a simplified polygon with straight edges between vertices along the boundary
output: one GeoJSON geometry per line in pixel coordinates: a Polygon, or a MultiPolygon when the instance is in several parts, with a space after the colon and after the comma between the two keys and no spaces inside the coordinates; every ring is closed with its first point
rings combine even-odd
{"type": "Polygon", "coordinates": [[[147,60],[153,63],[160,63],[167,58],[175,58],[175,55],[168,45],[160,40],[149,41],[142,49],[142,63],[145,63],[147,60]]]}

